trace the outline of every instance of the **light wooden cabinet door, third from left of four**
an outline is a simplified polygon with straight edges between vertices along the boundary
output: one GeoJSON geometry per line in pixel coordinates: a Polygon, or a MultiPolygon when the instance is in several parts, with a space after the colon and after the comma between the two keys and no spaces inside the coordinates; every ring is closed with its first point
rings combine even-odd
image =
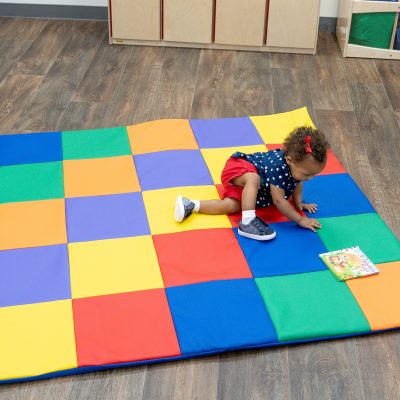
{"type": "Polygon", "coordinates": [[[215,10],[215,43],[262,46],[266,0],[218,0],[215,10]]]}

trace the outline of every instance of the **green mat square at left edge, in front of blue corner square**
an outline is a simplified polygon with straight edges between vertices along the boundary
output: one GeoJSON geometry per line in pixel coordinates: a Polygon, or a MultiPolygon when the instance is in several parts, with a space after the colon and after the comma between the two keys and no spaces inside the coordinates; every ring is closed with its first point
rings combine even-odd
{"type": "Polygon", "coordinates": [[[63,197],[61,161],[10,165],[0,169],[0,204],[63,197]]]}

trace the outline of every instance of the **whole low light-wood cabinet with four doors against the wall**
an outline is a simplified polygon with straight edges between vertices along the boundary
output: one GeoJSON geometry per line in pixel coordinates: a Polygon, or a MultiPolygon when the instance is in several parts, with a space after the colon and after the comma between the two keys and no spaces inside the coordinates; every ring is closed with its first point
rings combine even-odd
{"type": "Polygon", "coordinates": [[[110,43],[315,54],[320,0],[109,0],[110,43]]]}

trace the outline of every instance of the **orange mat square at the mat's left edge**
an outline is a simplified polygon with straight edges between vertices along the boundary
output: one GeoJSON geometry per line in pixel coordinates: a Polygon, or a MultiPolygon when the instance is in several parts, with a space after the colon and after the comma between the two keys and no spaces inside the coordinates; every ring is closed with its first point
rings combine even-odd
{"type": "Polygon", "coordinates": [[[0,204],[0,250],[67,243],[64,199],[0,204]]]}

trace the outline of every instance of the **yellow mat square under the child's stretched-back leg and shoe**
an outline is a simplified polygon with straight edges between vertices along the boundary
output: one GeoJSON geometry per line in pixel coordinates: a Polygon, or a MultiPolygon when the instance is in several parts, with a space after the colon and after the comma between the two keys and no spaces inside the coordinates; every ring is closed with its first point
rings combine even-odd
{"type": "Polygon", "coordinates": [[[232,228],[226,215],[194,214],[185,221],[174,220],[175,199],[178,195],[193,200],[219,199],[215,186],[184,186],[143,192],[150,230],[153,235],[194,229],[232,228]]]}

